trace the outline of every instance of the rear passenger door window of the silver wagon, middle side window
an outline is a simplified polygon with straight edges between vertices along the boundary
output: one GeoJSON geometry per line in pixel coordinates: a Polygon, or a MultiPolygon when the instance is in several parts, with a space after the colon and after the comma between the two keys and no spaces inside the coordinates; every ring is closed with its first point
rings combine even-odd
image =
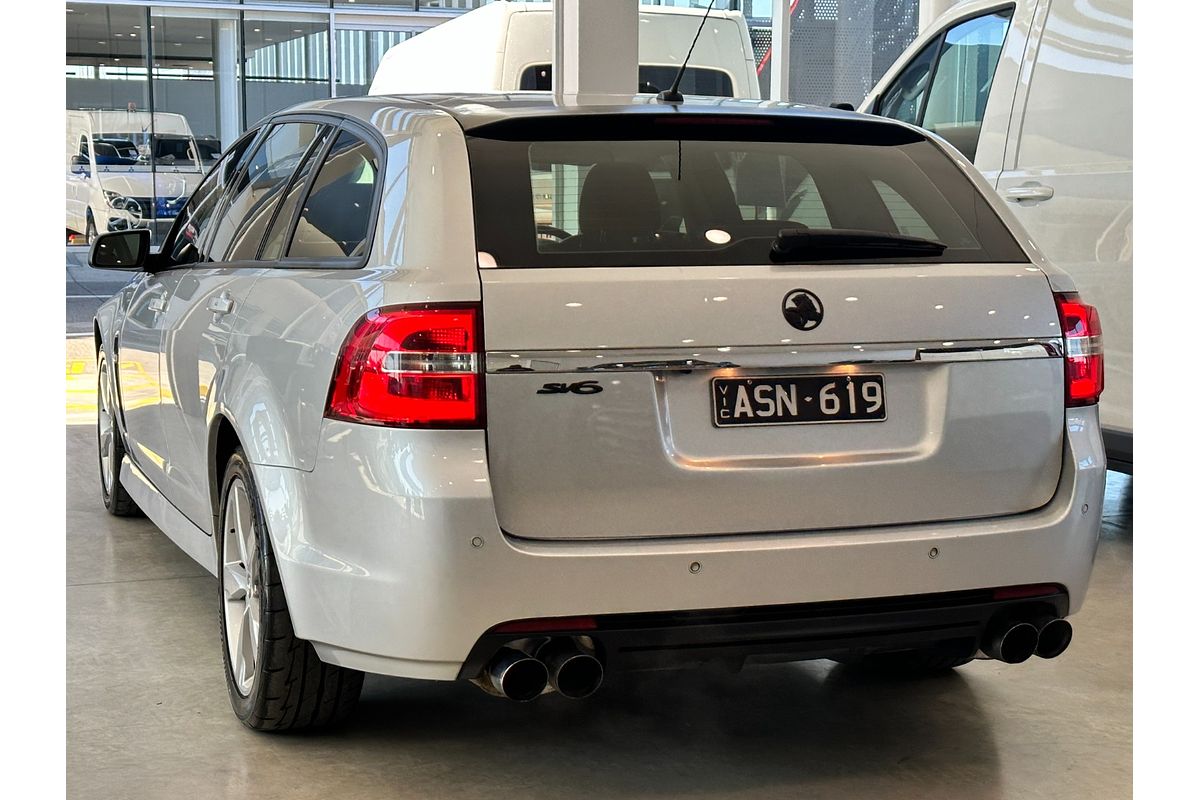
{"type": "Polygon", "coordinates": [[[316,122],[271,126],[229,192],[212,237],[212,260],[236,261],[258,254],[283,188],[323,128],[316,122]]]}

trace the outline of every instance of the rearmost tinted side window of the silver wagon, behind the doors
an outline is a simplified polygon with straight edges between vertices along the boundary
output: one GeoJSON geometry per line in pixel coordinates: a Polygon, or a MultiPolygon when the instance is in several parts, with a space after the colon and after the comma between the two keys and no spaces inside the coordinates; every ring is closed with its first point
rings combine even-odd
{"type": "Polygon", "coordinates": [[[378,175],[374,151],[353,133],[338,133],[305,199],[288,258],[364,255],[378,175]]]}

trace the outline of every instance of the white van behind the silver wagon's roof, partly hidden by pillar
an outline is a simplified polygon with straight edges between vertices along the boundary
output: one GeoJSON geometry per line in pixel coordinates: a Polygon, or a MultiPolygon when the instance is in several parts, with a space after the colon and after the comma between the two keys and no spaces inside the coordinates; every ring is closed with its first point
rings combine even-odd
{"type": "MultiPolygon", "coordinates": [[[[703,16],[703,8],[638,11],[637,91],[671,86],[703,16]]],[[[392,46],[376,72],[371,94],[547,91],[553,41],[550,4],[493,2],[392,46]]],[[[679,91],[758,100],[750,29],[742,12],[709,14],[679,91]]]]}

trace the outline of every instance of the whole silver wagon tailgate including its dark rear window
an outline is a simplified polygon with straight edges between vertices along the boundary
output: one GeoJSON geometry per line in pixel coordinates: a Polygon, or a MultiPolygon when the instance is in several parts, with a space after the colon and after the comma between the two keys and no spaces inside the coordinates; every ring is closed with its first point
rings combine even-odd
{"type": "Polygon", "coordinates": [[[468,131],[506,533],[808,531],[1050,499],[1045,276],[920,134],[810,116],[468,131]],[[804,249],[808,231],[833,245],[804,249]]]}

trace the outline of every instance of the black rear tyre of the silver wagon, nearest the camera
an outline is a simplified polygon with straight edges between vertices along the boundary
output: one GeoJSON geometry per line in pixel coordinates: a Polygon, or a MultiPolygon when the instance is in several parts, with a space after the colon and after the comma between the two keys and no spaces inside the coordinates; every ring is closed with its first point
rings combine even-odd
{"type": "Polygon", "coordinates": [[[221,654],[234,714],[247,728],[269,732],[320,728],[344,720],[358,704],[362,673],[324,663],[312,644],[296,638],[270,536],[266,535],[254,477],[240,447],[229,457],[221,486],[216,548],[221,654]],[[234,678],[226,624],[224,539],[230,531],[230,521],[227,519],[229,492],[238,481],[242,482],[250,499],[250,516],[258,542],[257,553],[252,557],[254,567],[246,567],[252,591],[257,590],[262,597],[258,656],[247,694],[241,693],[234,678]]]}

